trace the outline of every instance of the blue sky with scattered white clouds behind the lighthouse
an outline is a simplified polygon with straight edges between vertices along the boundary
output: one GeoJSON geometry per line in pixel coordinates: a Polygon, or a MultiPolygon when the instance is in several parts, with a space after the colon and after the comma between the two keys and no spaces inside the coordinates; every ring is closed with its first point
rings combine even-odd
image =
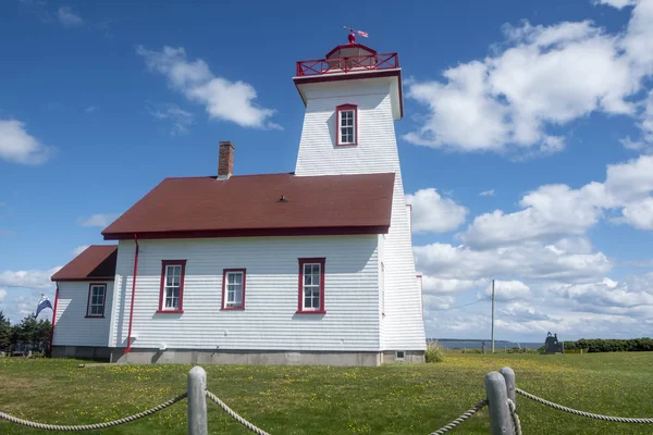
{"type": "Polygon", "coordinates": [[[53,268],[163,177],[214,174],[219,140],[237,174],[292,171],[295,62],[354,25],[399,53],[428,335],[486,336],[485,301],[451,308],[491,278],[498,338],[649,333],[653,1],[306,4],[3,1],[0,310],[52,298],[53,268]]]}

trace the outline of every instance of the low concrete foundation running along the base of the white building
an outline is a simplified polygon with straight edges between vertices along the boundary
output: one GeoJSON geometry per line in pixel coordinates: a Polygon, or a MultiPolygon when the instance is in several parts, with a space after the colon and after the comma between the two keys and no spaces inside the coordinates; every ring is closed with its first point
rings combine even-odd
{"type": "Polygon", "coordinates": [[[83,358],[108,360],[116,363],[151,364],[259,364],[259,365],[356,365],[374,366],[393,363],[422,363],[424,352],[330,352],[330,351],[247,351],[194,349],[132,349],[124,348],[54,346],[53,358],[83,358]],[[402,353],[403,352],[403,353],[402,353]],[[401,358],[403,357],[403,358],[401,358]]]}

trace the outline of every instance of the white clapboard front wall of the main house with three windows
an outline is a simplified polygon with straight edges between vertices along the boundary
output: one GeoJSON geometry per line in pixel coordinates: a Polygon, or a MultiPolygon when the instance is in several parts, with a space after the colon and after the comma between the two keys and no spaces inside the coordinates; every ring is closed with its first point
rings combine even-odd
{"type": "MultiPolygon", "coordinates": [[[[378,237],[296,236],[139,241],[134,348],[380,349],[378,237]],[[297,314],[299,258],[326,259],[326,314],[297,314]],[[156,313],[161,260],[186,260],[183,314],[156,313]],[[245,310],[221,310],[223,269],[247,269],[245,310]]],[[[112,347],[125,347],[135,244],[122,240],[112,347]]]]}

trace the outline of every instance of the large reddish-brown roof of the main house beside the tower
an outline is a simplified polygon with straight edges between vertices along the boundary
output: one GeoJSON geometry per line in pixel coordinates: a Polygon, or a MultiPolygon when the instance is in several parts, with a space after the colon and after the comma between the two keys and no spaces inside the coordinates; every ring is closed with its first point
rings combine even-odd
{"type": "Polygon", "coordinates": [[[394,173],[165,178],[103,232],[106,240],[381,234],[394,173]],[[282,200],[283,197],[283,200],[282,200]]]}

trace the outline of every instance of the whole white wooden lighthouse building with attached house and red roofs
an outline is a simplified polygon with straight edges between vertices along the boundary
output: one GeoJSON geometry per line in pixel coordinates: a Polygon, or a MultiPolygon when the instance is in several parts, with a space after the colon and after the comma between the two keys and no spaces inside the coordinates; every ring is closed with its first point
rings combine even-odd
{"type": "Polygon", "coordinates": [[[394,122],[396,53],[297,62],[293,173],[165,178],[52,276],[53,356],[120,362],[421,362],[421,285],[394,122]]]}

